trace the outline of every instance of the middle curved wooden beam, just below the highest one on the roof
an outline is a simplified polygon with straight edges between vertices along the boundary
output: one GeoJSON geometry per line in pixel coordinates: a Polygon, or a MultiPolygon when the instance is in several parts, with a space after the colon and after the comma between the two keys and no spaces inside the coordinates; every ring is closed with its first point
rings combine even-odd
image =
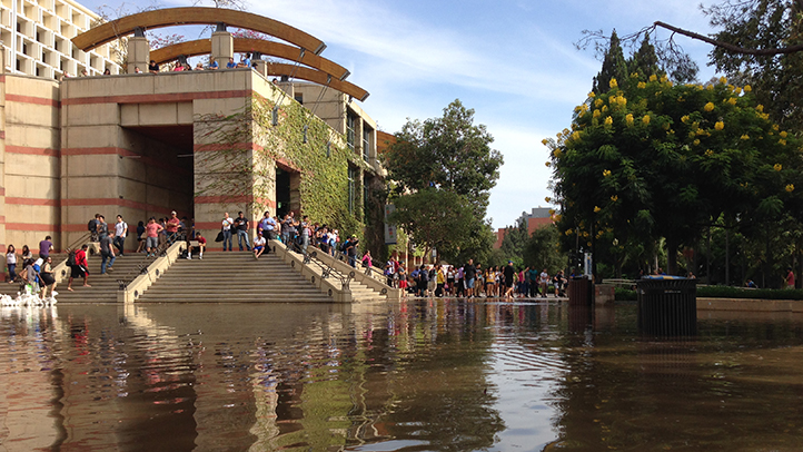
{"type": "MultiPolygon", "coordinates": [[[[290,61],[298,61],[301,56],[301,49],[288,46],[281,42],[266,41],[264,39],[235,38],[236,52],[260,52],[270,57],[284,58],[290,61]]],[[[209,39],[198,39],[195,41],[186,41],[166,46],[161,49],[150,51],[150,59],[161,65],[178,59],[179,56],[196,57],[199,55],[211,53],[211,41],[209,39]]],[[[227,61],[218,61],[221,67],[227,61]]],[[[304,52],[300,60],[301,65],[309,66],[331,75],[338,80],[345,80],[349,76],[349,71],[335,61],[327,60],[311,52],[304,52]]]]}

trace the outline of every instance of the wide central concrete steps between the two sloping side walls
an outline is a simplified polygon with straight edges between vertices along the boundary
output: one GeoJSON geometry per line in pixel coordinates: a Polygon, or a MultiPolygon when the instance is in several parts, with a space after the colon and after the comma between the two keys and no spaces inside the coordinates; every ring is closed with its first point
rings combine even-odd
{"type": "MultiPolygon", "coordinates": [[[[90,283],[91,284],[91,283],[90,283]]],[[[274,254],[207,252],[179,258],[137,303],[330,303],[274,254]]]]}

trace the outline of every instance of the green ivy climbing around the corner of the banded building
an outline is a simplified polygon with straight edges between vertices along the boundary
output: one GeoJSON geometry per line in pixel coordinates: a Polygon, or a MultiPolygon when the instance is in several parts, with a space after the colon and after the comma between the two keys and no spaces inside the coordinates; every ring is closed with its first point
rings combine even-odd
{"type": "MultiPolygon", "coordinates": [[[[366,215],[363,212],[361,175],[368,170],[368,165],[346,146],[343,134],[333,130],[296,101],[279,106],[278,124],[274,126],[275,107],[275,102],[254,96],[241,111],[230,116],[208,115],[197,121],[206,126],[204,135],[209,137],[206,141],[214,143],[218,149],[202,154],[208,180],[204,180],[196,195],[234,197],[252,189],[255,202],[251,207],[265,209],[268,206],[261,199],[267,199],[275,189],[270,166],[274,161],[285,161],[300,171],[301,214],[308,215],[311,222],[338,228],[343,237],[355,234],[363,239],[366,215]],[[242,144],[249,143],[258,147],[244,149],[242,144]],[[359,168],[353,213],[348,208],[349,166],[359,168]],[[251,175],[252,188],[248,184],[251,175]],[[245,183],[236,186],[232,180],[245,183]]],[[[370,198],[371,205],[378,204],[376,207],[381,210],[384,197],[370,198]]],[[[383,226],[373,215],[368,217],[373,219],[371,229],[383,226]]]]}

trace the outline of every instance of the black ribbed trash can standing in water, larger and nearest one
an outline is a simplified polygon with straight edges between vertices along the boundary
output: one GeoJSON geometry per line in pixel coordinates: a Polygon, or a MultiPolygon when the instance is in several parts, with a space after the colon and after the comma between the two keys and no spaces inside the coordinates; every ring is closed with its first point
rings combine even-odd
{"type": "Polygon", "coordinates": [[[697,279],[645,278],[636,287],[640,333],[663,337],[697,334],[697,279]]]}

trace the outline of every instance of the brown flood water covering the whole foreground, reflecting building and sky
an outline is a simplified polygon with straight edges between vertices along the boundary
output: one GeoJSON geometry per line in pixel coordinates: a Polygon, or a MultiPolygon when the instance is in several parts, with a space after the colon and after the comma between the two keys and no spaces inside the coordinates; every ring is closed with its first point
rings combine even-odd
{"type": "Polygon", "coordinates": [[[0,311],[0,451],[800,451],[803,318],[455,299],[0,311]],[[747,320],[749,318],[749,320],[747,320]]]}

